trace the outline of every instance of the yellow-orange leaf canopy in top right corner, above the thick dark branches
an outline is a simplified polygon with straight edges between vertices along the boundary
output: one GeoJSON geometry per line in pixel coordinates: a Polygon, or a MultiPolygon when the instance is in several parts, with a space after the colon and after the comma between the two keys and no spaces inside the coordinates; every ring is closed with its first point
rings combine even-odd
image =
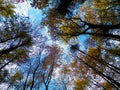
{"type": "Polygon", "coordinates": [[[119,0],[91,0],[81,6],[79,13],[85,12],[84,19],[90,23],[118,23],[119,0]],[[89,4],[88,4],[89,3],[89,4]],[[108,22],[109,21],[109,22],[108,22]]]}

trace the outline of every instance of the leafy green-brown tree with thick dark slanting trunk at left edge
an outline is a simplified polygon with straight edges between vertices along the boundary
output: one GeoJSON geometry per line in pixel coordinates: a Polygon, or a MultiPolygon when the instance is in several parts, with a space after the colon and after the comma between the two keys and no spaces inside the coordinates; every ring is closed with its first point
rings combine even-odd
{"type": "MultiPolygon", "coordinates": [[[[12,16],[7,18],[0,26],[1,75],[6,71],[5,67],[8,64],[13,62],[20,64],[28,58],[27,50],[32,44],[32,39],[29,34],[30,23],[25,23],[26,21],[27,18],[12,16]]],[[[1,82],[4,81],[6,81],[6,79],[1,82]]]]}

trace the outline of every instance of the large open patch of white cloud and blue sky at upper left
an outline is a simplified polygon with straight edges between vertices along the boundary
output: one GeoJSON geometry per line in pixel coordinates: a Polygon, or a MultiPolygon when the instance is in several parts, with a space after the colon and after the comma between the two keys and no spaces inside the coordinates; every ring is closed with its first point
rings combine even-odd
{"type": "Polygon", "coordinates": [[[31,7],[30,2],[22,2],[15,4],[16,6],[16,13],[22,16],[29,17],[31,20],[31,23],[34,23],[34,25],[39,25],[42,19],[42,11],[39,9],[36,9],[34,7],[31,7]]]}

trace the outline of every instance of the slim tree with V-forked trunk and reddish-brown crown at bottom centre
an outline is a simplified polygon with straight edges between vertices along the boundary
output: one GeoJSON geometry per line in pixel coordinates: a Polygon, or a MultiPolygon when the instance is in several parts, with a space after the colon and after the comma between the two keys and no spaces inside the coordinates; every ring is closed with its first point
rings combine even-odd
{"type": "Polygon", "coordinates": [[[50,81],[55,67],[57,67],[57,59],[59,58],[59,48],[57,46],[46,47],[48,48],[48,55],[42,62],[42,80],[45,85],[45,90],[48,90],[50,81]]]}

